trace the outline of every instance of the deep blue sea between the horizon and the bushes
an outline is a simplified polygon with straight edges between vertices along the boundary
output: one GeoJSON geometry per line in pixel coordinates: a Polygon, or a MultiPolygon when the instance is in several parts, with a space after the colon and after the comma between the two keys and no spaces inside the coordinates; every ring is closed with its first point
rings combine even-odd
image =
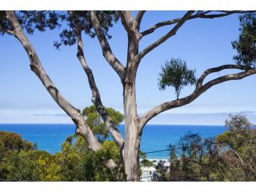
{"type": "MultiPolygon", "coordinates": [[[[0,124],[0,130],[21,134],[23,139],[38,143],[38,150],[55,153],[61,150],[66,137],[74,134],[75,126],[71,124],[0,124]]],[[[124,126],[119,126],[124,135],[124,126]]],[[[147,125],[142,133],[141,150],[149,152],[166,150],[171,144],[188,131],[199,133],[203,138],[213,137],[225,131],[224,126],[174,126],[147,125]]],[[[148,154],[147,158],[168,158],[168,152],[148,154]]]]}

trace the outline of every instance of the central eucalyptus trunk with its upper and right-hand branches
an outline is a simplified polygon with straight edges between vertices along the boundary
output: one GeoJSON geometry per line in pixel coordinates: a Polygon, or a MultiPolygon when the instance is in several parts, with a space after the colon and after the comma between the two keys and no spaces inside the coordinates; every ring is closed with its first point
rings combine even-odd
{"type": "MultiPolygon", "coordinates": [[[[143,14],[145,11],[138,11],[136,18],[132,18],[129,11],[118,11],[118,14],[121,18],[122,25],[128,35],[128,50],[127,50],[127,62],[126,68],[122,75],[120,71],[117,70],[117,67],[113,67],[113,62],[110,61],[110,58],[106,57],[104,50],[110,52],[110,46],[106,42],[106,38],[102,38],[102,29],[99,25],[98,18],[94,11],[90,11],[90,20],[94,26],[94,30],[98,36],[98,40],[102,46],[103,55],[106,58],[106,61],[110,63],[110,66],[116,70],[119,77],[121,78],[123,86],[123,103],[124,103],[124,116],[125,116],[125,144],[124,144],[124,158],[123,166],[125,166],[127,180],[129,181],[139,181],[138,178],[138,158],[139,158],[139,147],[142,137],[142,130],[146,123],[154,118],[156,115],[162,113],[165,110],[170,110],[178,106],[184,106],[190,102],[193,102],[194,99],[198,98],[206,90],[210,89],[211,86],[218,85],[219,83],[237,80],[245,78],[251,74],[255,74],[255,69],[250,69],[238,74],[228,74],[220,78],[216,78],[207,82],[205,85],[202,85],[203,80],[208,74],[218,72],[225,69],[238,69],[242,70],[241,66],[238,65],[224,65],[216,68],[206,70],[202,76],[198,79],[196,89],[192,94],[185,98],[174,100],[172,102],[165,102],[159,106],[154,107],[154,109],[148,111],[142,117],[138,117],[137,114],[137,104],[136,104],[136,74],[138,70],[139,63],[141,59],[151,50],[154,50],[157,46],[161,45],[168,38],[174,36],[177,31],[181,28],[184,23],[192,18],[221,18],[229,14],[242,13],[240,11],[222,11],[221,14],[209,14],[210,11],[204,11],[200,14],[194,14],[194,11],[188,11],[182,18],[177,18],[168,22],[160,22],[155,26],[151,27],[149,30],[146,30],[142,33],[139,32],[140,23],[142,22],[143,14]],[[156,42],[153,42],[150,46],[147,46],[142,52],[138,53],[138,43],[139,40],[146,34],[153,33],[154,30],[158,29],[161,26],[176,24],[167,34],[163,35],[162,38],[159,38],[156,42]],[[107,46],[106,46],[107,45],[107,46]],[[106,49],[107,47],[107,49],[106,49]]],[[[112,54],[112,52],[111,52],[112,54]]],[[[113,55],[111,57],[114,57],[113,55]]],[[[120,63],[121,64],[121,63],[120,63]]]]}

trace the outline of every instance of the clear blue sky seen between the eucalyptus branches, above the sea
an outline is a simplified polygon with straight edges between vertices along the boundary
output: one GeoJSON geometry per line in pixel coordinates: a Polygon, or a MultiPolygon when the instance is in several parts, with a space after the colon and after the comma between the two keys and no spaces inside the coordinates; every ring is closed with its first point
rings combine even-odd
{"type": "MultiPolygon", "coordinates": [[[[156,22],[176,18],[180,11],[148,11],[142,21],[142,30],[156,22]]],[[[175,98],[174,89],[158,90],[160,67],[170,58],[182,58],[196,69],[197,76],[213,66],[234,63],[235,51],[230,44],[238,38],[238,15],[215,19],[194,19],[186,22],[178,33],[143,58],[137,75],[138,113],[175,98]]],[[[170,26],[142,39],[140,50],[170,30],[170,26]]],[[[29,36],[38,51],[46,72],[64,97],[78,109],[90,106],[90,87],[86,74],[76,58],[76,46],[55,50],[60,30],[36,32],[29,36]]],[[[125,65],[127,38],[120,22],[111,30],[110,46],[125,65]]],[[[102,57],[98,39],[84,37],[87,62],[105,106],[122,112],[122,84],[118,75],[102,57]]],[[[0,123],[66,123],[71,122],[47,93],[42,83],[30,70],[30,62],[19,42],[10,36],[0,37],[0,123]]],[[[230,70],[232,72],[232,70],[230,70]]],[[[219,73],[219,75],[224,72],[219,73]]],[[[210,76],[217,77],[218,74],[210,76]]],[[[208,80],[210,78],[207,78],[208,80]]],[[[207,80],[206,79],[206,80],[207,80]]],[[[152,124],[215,124],[221,125],[230,113],[243,111],[256,123],[256,75],[241,81],[214,86],[193,103],[166,111],[150,121],[152,124]]],[[[194,87],[186,87],[186,96],[194,87]]]]}

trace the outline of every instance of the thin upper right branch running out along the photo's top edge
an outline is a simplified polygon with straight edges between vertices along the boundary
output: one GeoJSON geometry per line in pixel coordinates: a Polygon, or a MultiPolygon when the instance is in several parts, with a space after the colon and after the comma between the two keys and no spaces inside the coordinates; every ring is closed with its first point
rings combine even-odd
{"type": "MultiPolygon", "coordinates": [[[[190,19],[194,19],[194,18],[222,18],[225,17],[227,15],[230,14],[242,14],[242,13],[246,13],[246,12],[250,12],[250,11],[221,11],[222,14],[209,14],[210,10],[208,11],[203,11],[200,14],[194,14],[194,15],[190,15],[189,18],[187,18],[187,20],[190,19]]],[[[154,26],[151,26],[150,29],[148,30],[144,30],[141,34],[142,37],[146,36],[147,34],[152,34],[154,32],[154,30],[157,30],[158,28],[162,27],[162,26],[170,26],[173,25],[175,23],[178,23],[181,21],[182,18],[174,18],[168,21],[164,21],[164,22],[158,22],[157,24],[155,24],[154,26]]]]}

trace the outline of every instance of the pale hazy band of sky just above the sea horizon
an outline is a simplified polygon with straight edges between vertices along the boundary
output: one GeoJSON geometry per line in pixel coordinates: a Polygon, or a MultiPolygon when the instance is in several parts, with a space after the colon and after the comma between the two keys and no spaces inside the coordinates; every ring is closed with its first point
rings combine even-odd
{"type": "MultiPolygon", "coordinates": [[[[244,114],[252,124],[256,124],[255,111],[242,111],[230,113],[163,113],[158,114],[146,125],[224,126],[225,121],[230,118],[230,114],[244,114]]],[[[0,119],[0,124],[73,124],[68,115],[64,113],[6,114],[0,111],[0,119]]],[[[120,125],[123,124],[124,122],[120,123],[120,125]]]]}

